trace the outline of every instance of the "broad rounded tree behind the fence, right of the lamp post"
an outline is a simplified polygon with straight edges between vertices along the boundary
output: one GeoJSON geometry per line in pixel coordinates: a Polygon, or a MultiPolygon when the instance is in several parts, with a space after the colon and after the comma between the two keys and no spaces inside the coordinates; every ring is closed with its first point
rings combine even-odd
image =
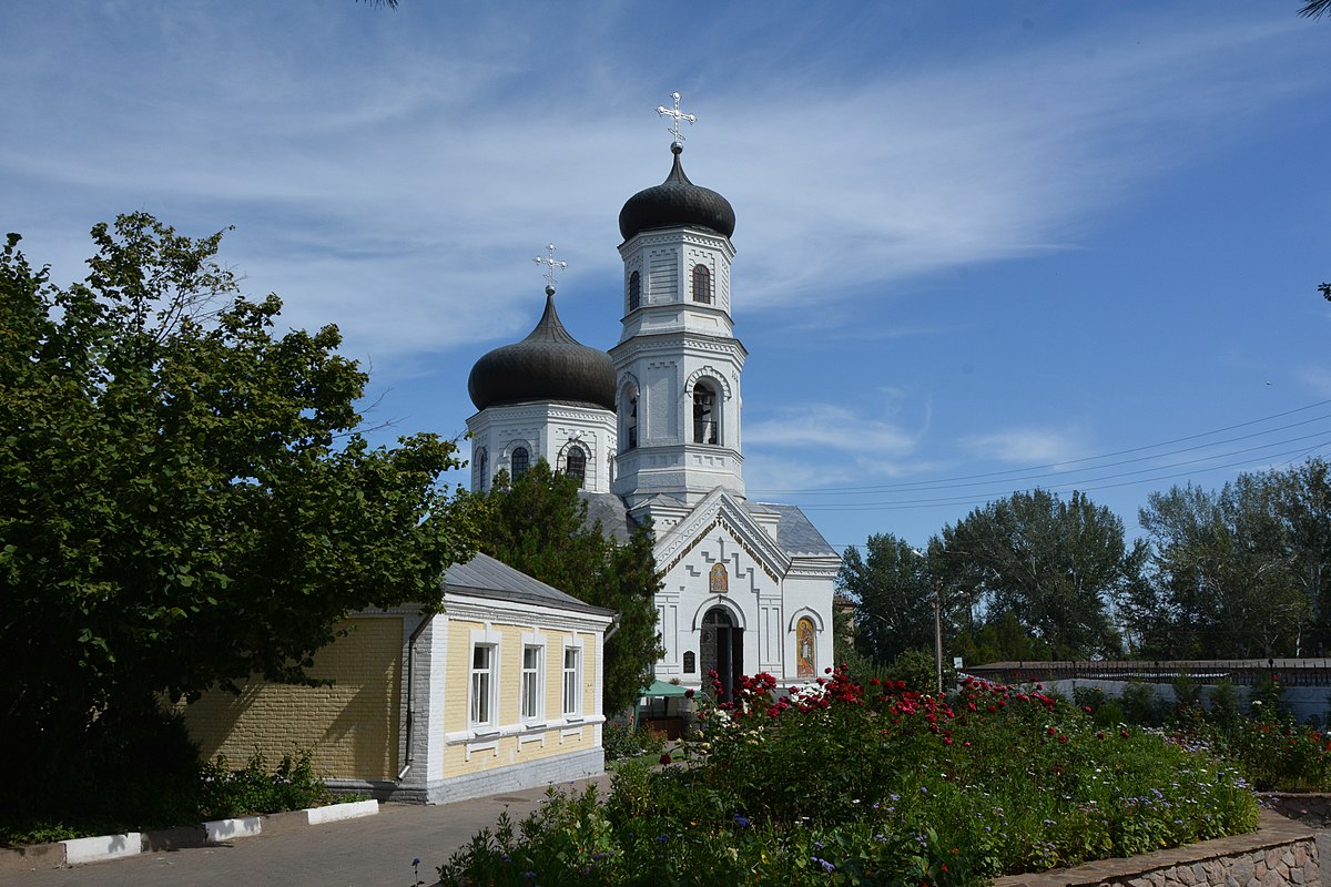
{"type": "Polygon", "coordinates": [[[1127,545],[1123,521],[1083,493],[1034,489],[945,527],[929,555],[974,601],[977,628],[1010,616],[1047,654],[1091,658],[1121,653],[1111,606],[1142,581],[1146,548],[1127,545]]]}

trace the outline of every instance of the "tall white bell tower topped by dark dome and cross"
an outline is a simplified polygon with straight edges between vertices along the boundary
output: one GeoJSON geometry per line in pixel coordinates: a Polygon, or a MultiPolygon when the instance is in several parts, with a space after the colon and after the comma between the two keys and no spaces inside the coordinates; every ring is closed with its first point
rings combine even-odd
{"type": "Polygon", "coordinates": [[[744,497],[740,372],[731,318],[735,210],[684,174],[675,106],[666,181],[619,213],[623,332],[610,350],[619,420],[614,492],[630,509],[656,496],[693,505],[717,487],[744,497]]]}

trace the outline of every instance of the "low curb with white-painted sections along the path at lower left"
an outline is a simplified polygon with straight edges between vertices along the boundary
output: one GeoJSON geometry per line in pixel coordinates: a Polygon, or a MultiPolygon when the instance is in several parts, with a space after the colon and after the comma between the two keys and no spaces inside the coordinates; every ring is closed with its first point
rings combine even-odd
{"type": "Polygon", "coordinates": [[[95,838],[59,840],[51,844],[0,848],[0,874],[33,871],[36,868],[60,868],[61,866],[83,866],[87,863],[106,862],[108,859],[124,859],[158,850],[206,847],[209,844],[226,843],[237,838],[280,835],[326,822],[373,817],[377,813],[379,813],[378,801],[355,801],[351,803],[334,803],[326,807],[293,810],[290,813],[272,813],[262,817],[216,819],[197,826],[180,826],[160,831],[130,831],[124,835],[97,835],[95,838]]]}

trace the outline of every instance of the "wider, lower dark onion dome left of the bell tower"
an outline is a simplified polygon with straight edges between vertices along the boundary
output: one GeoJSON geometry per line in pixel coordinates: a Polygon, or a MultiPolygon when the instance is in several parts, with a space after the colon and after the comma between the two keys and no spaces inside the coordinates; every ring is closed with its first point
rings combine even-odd
{"type": "Polygon", "coordinates": [[[610,355],[579,344],[555,313],[546,290],[546,313],[531,334],[488,352],[471,367],[467,394],[476,410],[507,403],[562,400],[615,408],[615,364],[610,355]]]}

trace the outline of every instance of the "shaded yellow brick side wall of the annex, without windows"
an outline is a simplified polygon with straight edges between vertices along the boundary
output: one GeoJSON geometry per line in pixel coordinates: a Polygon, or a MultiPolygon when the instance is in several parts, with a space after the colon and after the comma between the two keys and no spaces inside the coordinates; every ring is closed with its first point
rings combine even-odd
{"type": "MultiPolygon", "coordinates": [[[[309,749],[318,775],[391,779],[398,767],[402,698],[402,617],[355,617],[346,637],[314,656],[310,674],[333,686],[252,682],[241,696],[213,692],[186,706],[204,759],[233,766],[256,751],[269,765],[309,749]]],[[[466,684],[463,684],[466,686],[466,684]]]]}

